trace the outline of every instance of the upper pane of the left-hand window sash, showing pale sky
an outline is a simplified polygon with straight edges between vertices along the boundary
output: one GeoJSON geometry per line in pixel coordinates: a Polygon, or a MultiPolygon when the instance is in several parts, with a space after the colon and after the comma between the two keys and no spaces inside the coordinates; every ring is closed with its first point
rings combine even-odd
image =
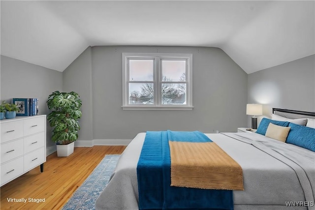
{"type": "Polygon", "coordinates": [[[153,60],[129,60],[129,81],[153,81],[153,60]]]}

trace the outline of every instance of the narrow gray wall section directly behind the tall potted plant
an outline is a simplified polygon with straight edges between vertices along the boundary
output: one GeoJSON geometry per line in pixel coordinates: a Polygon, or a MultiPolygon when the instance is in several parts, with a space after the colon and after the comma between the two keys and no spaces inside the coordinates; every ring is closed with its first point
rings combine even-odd
{"type": "Polygon", "coordinates": [[[83,103],[79,139],[93,140],[92,47],[88,47],[63,71],[63,91],[75,91],[80,95],[83,103]]]}

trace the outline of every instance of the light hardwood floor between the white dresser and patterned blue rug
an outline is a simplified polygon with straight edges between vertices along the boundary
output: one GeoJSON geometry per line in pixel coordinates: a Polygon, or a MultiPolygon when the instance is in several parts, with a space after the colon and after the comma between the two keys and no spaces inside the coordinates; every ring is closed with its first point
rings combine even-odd
{"type": "Polygon", "coordinates": [[[44,163],[1,187],[1,210],[60,210],[106,154],[121,154],[126,146],[74,148],[68,157],[53,153],[44,163]],[[45,199],[45,202],[9,202],[8,199],[45,199]]]}

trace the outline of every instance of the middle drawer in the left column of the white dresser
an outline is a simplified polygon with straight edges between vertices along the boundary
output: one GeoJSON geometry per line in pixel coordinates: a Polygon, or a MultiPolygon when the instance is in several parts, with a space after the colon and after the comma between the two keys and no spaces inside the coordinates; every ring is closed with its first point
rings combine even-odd
{"type": "Polygon", "coordinates": [[[24,154],[24,139],[15,140],[1,145],[1,163],[24,154]]]}

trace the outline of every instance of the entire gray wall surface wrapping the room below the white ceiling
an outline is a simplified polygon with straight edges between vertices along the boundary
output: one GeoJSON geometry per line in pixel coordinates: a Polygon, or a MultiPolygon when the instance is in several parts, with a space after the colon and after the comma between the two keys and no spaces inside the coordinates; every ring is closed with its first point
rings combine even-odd
{"type": "MultiPolygon", "coordinates": [[[[315,112],[315,55],[247,75],[221,49],[207,47],[88,47],[64,71],[1,56],[0,99],[38,98],[76,91],[83,101],[79,140],[132,139],[146,130],[234,132],[250,126],[246,103],[315,112]],[[192,53],[192,111],[122,110],[122,53],[192,53]]],[[[55,150],[47,126],[47,153],[55,150]]]]}

